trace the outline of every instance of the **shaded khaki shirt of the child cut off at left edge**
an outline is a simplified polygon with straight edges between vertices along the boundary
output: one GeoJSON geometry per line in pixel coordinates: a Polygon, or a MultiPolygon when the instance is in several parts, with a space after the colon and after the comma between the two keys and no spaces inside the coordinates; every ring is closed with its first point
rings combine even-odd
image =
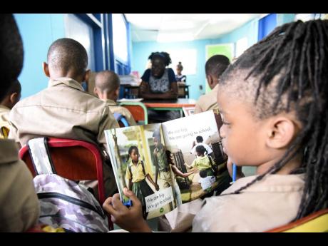
{"type": "Polygon", "coordinates": [[[14,140],[0,140],[0,231],[24,232],[39,219],[39,200],[14,140]]]}

